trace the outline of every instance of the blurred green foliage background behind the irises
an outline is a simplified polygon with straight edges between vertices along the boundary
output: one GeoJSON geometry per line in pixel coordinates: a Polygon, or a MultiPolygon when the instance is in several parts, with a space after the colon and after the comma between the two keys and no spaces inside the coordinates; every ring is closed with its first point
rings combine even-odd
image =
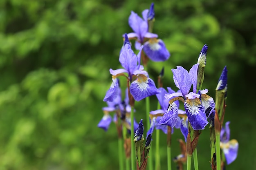
{"type": "MultiPolygon", "coordinates": [[[[121,67],[122,34],[132,32],[130,11],[141,16],[151,2],[0,1],[0,170],[118,169],[115,124],[108,132],[97,124],[111,84],[109,68],[121,67]]],[[[255,17],[254,0],[155,1],[153,32],[164,40],[171,57],[149,62],[153,80],[164,66],[164,87],[177,90],[171,68],[189,70],[207,44],[203,88],[215,98],[227,65],[225,121],[231,121],[231,139],[239,142],[238,157],[227,170],[256,169],[255,17]]],[[[150,102],[155,110],[156,97],[150,102]]],[[[137,121],[145,119],[144,104],[135,104],[137,121]]],[[[173,157],[180,152],[178,138],[182,135],[175,130],[173,157]]],[[[151,158],[154,141],[152,146],[151,158]]],[[[160,151],[164,170],[163,133],[160,151]]],[[[200,136],[198,161],[201,170],[210,169],[209,126],[200,136]]]]}

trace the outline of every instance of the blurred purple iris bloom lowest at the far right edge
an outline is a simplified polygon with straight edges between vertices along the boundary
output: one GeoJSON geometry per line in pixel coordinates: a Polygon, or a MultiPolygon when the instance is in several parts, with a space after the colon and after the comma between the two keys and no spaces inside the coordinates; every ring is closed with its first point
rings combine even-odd
{"type": "Polygon", "coordinates": [[[229,121],[226,122],[225,128],[222,127],[220,131],[220,148],[224,152],[227,164],[232,163],[238,154],[238,141],[236,139],[230,139],[229,121]]]}

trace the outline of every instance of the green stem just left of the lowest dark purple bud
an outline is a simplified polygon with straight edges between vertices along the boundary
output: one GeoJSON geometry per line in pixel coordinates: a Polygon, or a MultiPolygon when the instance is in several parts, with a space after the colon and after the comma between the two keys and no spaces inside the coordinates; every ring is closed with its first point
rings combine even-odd
{"type": "Polygon", "coordinates": [[[131,170],[135,170],[136,162],[135,162],[135,144],[133,142],[134,138],[134,107],[131,106],[131,170]]]}

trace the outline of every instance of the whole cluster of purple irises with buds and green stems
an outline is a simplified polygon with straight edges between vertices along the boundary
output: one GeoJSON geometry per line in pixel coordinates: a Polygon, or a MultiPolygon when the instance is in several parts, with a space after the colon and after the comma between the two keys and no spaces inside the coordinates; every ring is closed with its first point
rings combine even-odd
{"type": "MultiPolygon", "coordinates": [[[[183,170],[185,164],[186,169],[190,170],[192,155],[195,170],[198,170],[196,146],[202,130],[207,124],[210,124],[211,168],[212,170],[222,170],[225,168],[225,164],[230,164],[236,159],[238,152],[238,142],[236,139],[230,140],[229,122],[222,127],[227,98],[227,67],[224,67],[218,80],[216,102],[207,95],[208,89],[201,90],[208,49],[206,44],[202,47],[198,62],[189,71],[182,66],[171,69],[175,86],[179,89],[177,92],[171,87],[167,87],[167,91],[163,88],[163,70],[158,77],[156,86],[146,71],[147,62],[149,59],[154,62],[166,61],[170,57],[170,53],[164,42],[157,39],[158,35],[152,33],[154,21],[153,3],[150,9],[142,12],[142,18],[137,13],[131,12],[128,23],[134,32],[123,35],[124,44],[119,55],[119,62],[123,68],[117,70],[110,68],[112,84],[103,99],[108,106],[103,108],[104,116],[98,127],[107,131],[111,122],[115,122],[119,150],[124,150],[126,155],[124,168],[123,152],[119,151],[120,170],[134,170],[135,166],[137,170],[145,170],[147,165],[149,170],[160,169],[159,130],[167,135],[168,170],[171,170],[172,160],[177,163],[180,170],[183,170]],[[130,40],[135,40],[135,49],[139,51],[137,55],[132,50],[130,40]],[[127,80],[124,100],[122,99],[123,93],[119,76],[124,76],[127,80]],[[152,95],[156,95],[159,103],[157,110],[146,113],[150,121],[147,123],[144,145],[144,126],[142,119],[137,124],[134,117],[134,106],[135,101],[142,99],[146,99],[146,103],[149,102],[148,97],[152,95]],[[179,101],[183,103],[182,106],[179,101]],[[111,112],[115,113],[113,117],[110,116],[111,112]],[[172,159],[171,134],[174,128],[180,129],[184,140],[178,140],[181,154],[172,159]],[[155,167],[153,168],[153,161],[148,160],[148,154],[154,133],[156,134],[155,141],[158,144],[156,144],[156,152],[153,154],[155,156],[155,167]],[[134,137],[134,140],[131,137],[134,137]]],[[[146,110],[148,110],[149,106],[146,105],[146,110]]],[[[139,114],[137,118],[139,118],[139,114]]]]}

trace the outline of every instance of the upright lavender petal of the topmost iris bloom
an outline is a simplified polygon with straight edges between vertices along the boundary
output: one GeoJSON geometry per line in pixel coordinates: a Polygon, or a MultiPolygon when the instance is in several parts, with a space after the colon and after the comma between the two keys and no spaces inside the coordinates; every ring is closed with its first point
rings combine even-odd
{"type": "Polygon", "coordinates": [[[139,42],[143,42],[144,35],[148,32],[148,23],[133,11],[131,11],[128,23],[132,30],[139,36],[139,42]]]}

